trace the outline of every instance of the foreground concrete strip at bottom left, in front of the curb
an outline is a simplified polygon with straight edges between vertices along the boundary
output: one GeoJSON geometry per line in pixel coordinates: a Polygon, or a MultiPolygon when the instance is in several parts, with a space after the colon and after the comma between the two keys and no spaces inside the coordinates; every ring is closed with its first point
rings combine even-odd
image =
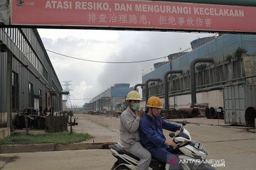
{"type": "Polygon", "coordinates": [[[110,170],[115,161],[108,149],[0,154],[2,170],[110,170]]]}

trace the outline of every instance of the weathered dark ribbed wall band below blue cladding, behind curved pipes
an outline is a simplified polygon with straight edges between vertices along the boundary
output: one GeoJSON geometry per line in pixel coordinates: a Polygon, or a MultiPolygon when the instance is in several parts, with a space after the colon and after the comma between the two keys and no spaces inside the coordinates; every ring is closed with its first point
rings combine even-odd
{"type": "MultiPolygon", "coordinates": [[[[246,56],[243,55],[242,58],[246,56]]],[[[233,59],[230,62],[220,62],[218,64],[212,64],[204,69],[196,69],[196,86],[197,89],[203,89],[214,86],[222,86],[225,84],[223,81],[242,81],[233,80],[237,78],[242,78],[245,75],[244,69],[242,69],[242,58],[240,60],[233,59]]],[[[248,69],[253,69],[250,67],[248,69]]],[[[249,75],[251,76],[251,74],[249,75]]],[[[188,72],[183,73],[181,76],[173,77],[168,83],[169,93],[180,95],[180,93],[190,93],[191,92],[191,76],[188,72]]],[[[143,96],[145,94],[145,89],[143,91],[143,96]]],[[[162,82],[149,84],[149,96],[164,96],[164,84],[162,82]]]]}

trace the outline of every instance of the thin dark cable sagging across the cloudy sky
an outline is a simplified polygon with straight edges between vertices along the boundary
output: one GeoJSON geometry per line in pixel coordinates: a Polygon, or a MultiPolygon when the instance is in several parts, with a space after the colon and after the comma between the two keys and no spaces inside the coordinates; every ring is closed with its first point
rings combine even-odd
{"type": "Polygon", "coordinates": [[[63,54],[60,54],[58,52],[53,52],[51,50],[46,50],[46,51],[52,52],[56,55],[61,55],[63,57],[73,58],[75,60],[82,60],[82,61],[86,61],[86,62],[100,62],[100,63],[105,63],[105,64],[131,64],[131,63],[137,63],[137,62],[149,62],[149,61],[153,61],[153,60],[159,60],[159,59],[166,58],[166,57],[159,57],[159,58],[154,58],[154,59],[150,59],[150,60],[141,60],[141,61],[133,61],[133,62],[102,62],[102,61],[97,61],[97,60],[86,60],[86,59],[81,59],[81,58],[78,58],[78,57],[72,57],[72,56],[69,56],[69,55],[63,55],[63,54]]]}

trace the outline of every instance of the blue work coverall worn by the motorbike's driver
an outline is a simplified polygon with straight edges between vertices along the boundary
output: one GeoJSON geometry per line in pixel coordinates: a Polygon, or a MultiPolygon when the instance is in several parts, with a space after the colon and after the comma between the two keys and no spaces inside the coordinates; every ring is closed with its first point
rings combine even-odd
{"type": "Polygon", "coordinates": [[[163,129],[176,132],[180,128],[180,125],[163,120],[161,115],[153,118],[145,113],[140,120],[139,135],[142,145],[149,150],[152,158],[170,164],[169,169],[178,169],[178,159],[166,150],[167,145],[164,144],[166,137],[163,129]]]}

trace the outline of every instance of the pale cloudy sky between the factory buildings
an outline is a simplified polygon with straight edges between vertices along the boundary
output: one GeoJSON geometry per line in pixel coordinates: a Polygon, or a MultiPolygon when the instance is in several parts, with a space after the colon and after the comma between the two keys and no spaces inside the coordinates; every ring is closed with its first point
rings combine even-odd
{"type": "MultiPolygon", "coordinates": [[[[46,50],[85,60],[132,62],[166,57],[191,47],[190,42],[210,33],[174,33],[132,30],[59,30],[38,29],[46,50]]],[[[114,84],[134,86],[142,83],[142,74],[154,69],[151,62],[105,64],[75,60],[48,52],[60,80],[70,81],[73,106],[82,106],[114,84]]]]}

